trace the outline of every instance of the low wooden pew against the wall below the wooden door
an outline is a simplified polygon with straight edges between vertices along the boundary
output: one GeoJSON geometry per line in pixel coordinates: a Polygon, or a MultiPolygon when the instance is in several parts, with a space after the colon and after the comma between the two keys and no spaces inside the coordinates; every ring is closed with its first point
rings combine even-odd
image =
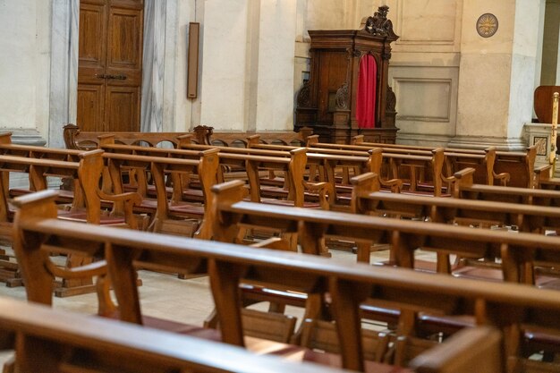
{"type": "Polygon", "coordinates": [[[75,124],[64,126],[64,144],[67,149],[91,150],[98,148],[98,137],[107,133],[115,136],[115,141],[123,145],[148,145],[156,147],[165,143],[177,148],[177,137],[188,132],[97,132],[81,131],[75,124]]]}

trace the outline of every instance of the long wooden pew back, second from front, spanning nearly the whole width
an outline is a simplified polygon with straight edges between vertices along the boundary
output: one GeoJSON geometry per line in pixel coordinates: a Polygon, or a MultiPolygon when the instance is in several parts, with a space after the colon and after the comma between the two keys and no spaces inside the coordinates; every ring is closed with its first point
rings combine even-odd
{"type": "MultiPolygon", "coordinates": [[[[55,196],[51,195],[49,198],[52,200],[55,196]]],[[[26,196],[25,199],[31,204],[38,203],[35,196],[26,196]]],[[[236,291],[238,285],[254,281],[288,286],[310,293],[328,290],[333,299],[331,307],[335,311],[337,330],[341,338],[343,365],[350,369],[363,369],[364,366],[359,347],[361,342],[356,339],[359,335],[356,331],[361,326],[356,328],[357,314],[349,309],[355,309],[361,301],[369,297],[369,301],[390,301],[405,309],[418,308],[432,312],[437,309],[446,314],[476,312],[479,319],[496,323],[496,326],[504,330],[516,327],[520,322],[547,327],[558,327],[559,324],[557,318],[543,318],[543,313],[550,316],[560,311],[560,295],[556,292],[538,291],[512,284],[489,284],[480,287],[478,282],[447,276],[426,275],[395,268],[373,269],[360,265],[336,265],[327,259],[273,253],[269,250],[261,251],[216,242],[191,242],[170,236],[165,237],[165,243],[154,242],[155,237],[151,237],[150,233],[126,234],[102,226],[92,227],[89,232],[84,233],[80,225],[46,219],[48,215],[52,215],[52,210],[50,213],[45,211],[46,216],[41,218],[38,214],[41,209],[37,205],[34,208],[30,207],[27,214],[23,205],[22,208],[17,221],[21,233],[24,232],[26,237],[37,236],[38,239],[22,242],[26,244],[25,250],[30,253],[44,252],[38,251],[41,250],[40,247],[32,242],[46,242],[47,245],[62,245],[65,250],[86,250],[91,253],[106,248],[106,258],[115,281],[115,294],[123,320],[140,323],[141,319],[140,309],[134,306],[138,304],[138,295],[132,298],[130,295],[137,294],[136,283],[133,280],[133,262],[146,261],[161,268],[183,267],[196,270],[208,260],[216,307],[220,314],[221,338],[226,343],[245,345],[239,323],[240,311],[235,310],[237,308],[233,304],[239,304],[239,294],[236,291]],[[90,243],[85,244],[86,242],[90,243]],[[115,243],[107,245],[108,242],[115,243]],[[107,251],[107,248],[111,250],[107,251]],[[320,284],[330,285],[325,288],[320,284]],[[373,285],[377,290],[372,293],[359,292],[358,289],[365,289],[366,284],[373,285]],[[417,296],[419,292],[425,292],[426,297],[420,299],[417,296]],[[437,298],[430,298],[430,293],[437,293],[437,298]],[[445,301],[442,301],[444,298],[445,301]],[[475,302],[479,305],[481,302],[487,303],[488,307],[473,308],[475,302]],[[515,316],[505,320],[505,309],[518,311],[513,312],[515,316]],[[125,314],[128,316],[125,317],[125,314]]],[[[39,279],[36,278],[35,281],[39,279]]],[[[50,289],[47,290],[50,292],[50,289]]],[[[38,293],[35,296],[38,296],[38,293]]],[[[516,338],[514,333],[512,336],[516,338]]],[[[508,340],[505,342],[506,347],[514,346],[510,345],[510,342],[515,343],[508,340]]],[[[508,351],[508,354],[510,353],[515,354],[516,350],[508,351]]]]}

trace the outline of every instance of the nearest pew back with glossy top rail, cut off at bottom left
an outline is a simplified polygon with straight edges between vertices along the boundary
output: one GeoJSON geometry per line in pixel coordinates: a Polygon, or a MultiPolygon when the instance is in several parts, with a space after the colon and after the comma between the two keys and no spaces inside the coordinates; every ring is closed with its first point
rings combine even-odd
{"type": "MultiPolygon", "coordinates": [[[[8,298],[0,299],[0,338],[4,349],[15,350],[15,360],[11,367],[4,366],[4,372],[9,369],[20,373],[347,371],[274,356],[258,356],[225,343],[8,298]]],[[[477,338],[474,339],[476,342],[478,335],[473,338],[477,338]]],[[[459,353],[462,356],[469,352],[459,353]]],[[[406,371],[403,369],[403,373],[406,371]]]]}

